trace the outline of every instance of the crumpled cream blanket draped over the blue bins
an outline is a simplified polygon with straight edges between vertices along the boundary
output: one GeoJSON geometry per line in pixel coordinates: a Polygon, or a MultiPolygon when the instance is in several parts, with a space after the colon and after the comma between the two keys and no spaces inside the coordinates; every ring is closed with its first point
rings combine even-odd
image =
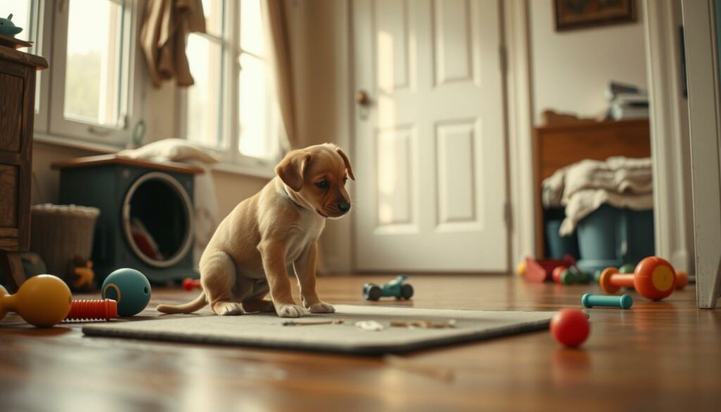
{"type": "Polygon", "coordinates": [[[541,201],[545,208],[565,206],[562,236],[571,235],[576,224],[603,203],[638,211],[653,209],[651,159],[586,159],[563,167],[544,179],[541,201]]]}

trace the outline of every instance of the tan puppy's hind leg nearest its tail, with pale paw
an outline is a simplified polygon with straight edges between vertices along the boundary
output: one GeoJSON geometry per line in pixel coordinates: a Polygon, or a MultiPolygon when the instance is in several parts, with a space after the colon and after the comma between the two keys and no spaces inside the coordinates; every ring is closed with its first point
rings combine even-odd
{"type": "Polygon", "coordinates": [[[200,261],[200,284],[216,315],[242,315],[243,307],[234,302],[235,263],[227,253],[216,252],[200,261]]]}

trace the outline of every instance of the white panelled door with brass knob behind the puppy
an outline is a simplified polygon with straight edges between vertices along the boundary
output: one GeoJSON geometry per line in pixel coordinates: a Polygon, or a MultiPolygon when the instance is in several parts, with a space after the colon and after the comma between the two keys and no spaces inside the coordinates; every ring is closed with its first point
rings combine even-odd
{"type": "Polygon", "coordinates": [[[506,271],[497,0],[353,2],[355,266],[506,271]]]}

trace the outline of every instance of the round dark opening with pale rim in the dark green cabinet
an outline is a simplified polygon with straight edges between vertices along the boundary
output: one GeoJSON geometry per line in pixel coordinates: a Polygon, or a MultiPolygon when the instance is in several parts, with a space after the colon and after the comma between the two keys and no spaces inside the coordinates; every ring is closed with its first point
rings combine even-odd
{"type": "Polygon", "coordinates": [[[173,266],[190,252],[192,210],[190,197],[177,180],[162,172],[141,175],[123,199],[125,240],[150,266],[173,266]]]}

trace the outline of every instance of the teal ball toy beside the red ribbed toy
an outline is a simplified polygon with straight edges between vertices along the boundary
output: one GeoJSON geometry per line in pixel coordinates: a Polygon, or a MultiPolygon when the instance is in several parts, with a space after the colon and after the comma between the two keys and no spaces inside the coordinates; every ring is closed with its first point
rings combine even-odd
{"type": "Polygon", "coordinates": [[[118,316],[138,315],[150,302],[150,282],[135,269],[118,269],[102,282],[102,298],[118,302],[118,316]]]}

